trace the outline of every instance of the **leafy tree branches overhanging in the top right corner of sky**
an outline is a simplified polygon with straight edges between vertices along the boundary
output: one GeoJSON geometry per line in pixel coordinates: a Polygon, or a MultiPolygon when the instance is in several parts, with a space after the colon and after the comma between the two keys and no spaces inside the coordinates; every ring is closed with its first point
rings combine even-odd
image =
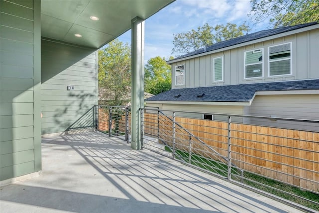
{"type": "Polygon", "coordinates": [[[319,0],[251,0],[251,19],[274,28],[319,21],[319,0]]]}

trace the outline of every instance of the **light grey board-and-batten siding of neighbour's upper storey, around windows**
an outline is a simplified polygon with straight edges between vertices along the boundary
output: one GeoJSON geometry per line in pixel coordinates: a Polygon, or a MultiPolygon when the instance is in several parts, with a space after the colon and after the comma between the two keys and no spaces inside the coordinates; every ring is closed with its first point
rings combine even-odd
{"type": "Polygon", "coordinates": [[[262,83],[319,78],[319,24],[265,37],[250,42],[207,51],[199,55],[174,59],[172,67],[172,89],[204,86],[262,83]],[[291,43],[292,73],[269,76],[268,48],[291,43]],[[263,49],[263,76],[245,78],[244,58],[246,51],[263,49]],[[222,81],[214,81],[214,58],[222,57],[222,81]],[[184,65],[185,83],[175,85],[175,67],[184,65]]]}

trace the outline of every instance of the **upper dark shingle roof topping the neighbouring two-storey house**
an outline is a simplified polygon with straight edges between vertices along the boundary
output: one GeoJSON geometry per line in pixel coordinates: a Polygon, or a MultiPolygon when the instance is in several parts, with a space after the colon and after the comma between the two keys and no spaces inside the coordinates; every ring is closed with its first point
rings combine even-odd
{"type": "MultiPolygon", "coordinates": [[[[201,54],[201,53],[204,53],[204,52],[209,52],[209,51],[213,51],[213,50],[217,50],[217,49],[233,46],[233,45],[236,45],[236,44],[257,40],[257,39],[260,39],[260,38],[265,38],[265,37],[272,36],[272,35],[277,35],[277,34],[280,34],[280,33],[289,32],[289,31],[292,31],[292,30],[295,30],[295,29],[300,29],[300,28],[304,28],[304,27],[312,26],[312,25],[316,25],[316,24],[318,24],[318,23],[317,22],[312,22],[312,23],[299,24],[299,25],[295,25],[295,26],[287,26],[287,27],[282,27],[282,28],[267,29],[267,30],[262,30],[262,31],[259,31],[259,32],[254,32],[254,33],[251,33],[251,34],[248,34],[248,35],[240,36],[238,38],[233,38],[233,39],[230,39],[230,40],[225,40],[225,41],[222,41],[222,42],[219,42],[219,43],[215,43],[215,44],[213,44],[211,46],[206,47],[206,49],[202,48],[202,49],[196,50],[194,52],[191,52],[191,53],[179,56],[177,58],[174,58],[173,60],[186,58],[186,57],[193,56],[193,55],[198,55],[198,54],[201,54]]],[[[171,60],[171,61],[173,61],[173,60],[171,60]]],[[[169,61],[167,63],[169,63],[169,61]]]]}

